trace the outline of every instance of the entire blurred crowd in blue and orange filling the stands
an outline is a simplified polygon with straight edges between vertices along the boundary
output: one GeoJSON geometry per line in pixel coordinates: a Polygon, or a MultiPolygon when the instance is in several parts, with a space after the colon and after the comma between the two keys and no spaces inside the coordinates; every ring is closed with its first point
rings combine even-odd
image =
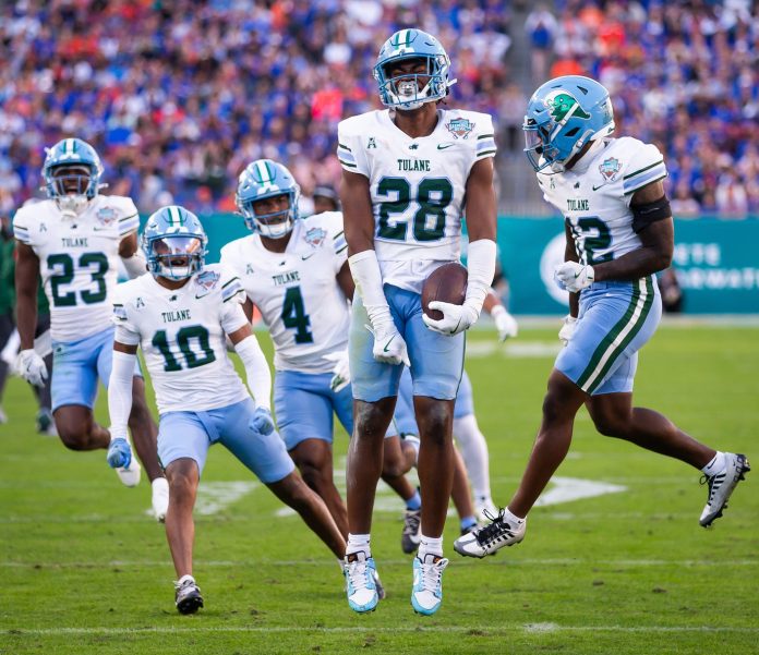
{"type": "Polygon", "coordinates": [[[439,37],[451,104],[495,117],[502,157],[522,147],[525,92],[590,74],[618,133],[666,154],[678,215],[759,210],[759,21],[745,0],[19,0],[0,3],[0,214],[38,194],[44,147],[71,135],[146,213],[232,210],[258,157],[306,195],[334,185],[337,122],[378,107],[377,50],[408,26],[439,37]],[[509,63],[515,7],[529,12],[527,74],[509,63]]]}

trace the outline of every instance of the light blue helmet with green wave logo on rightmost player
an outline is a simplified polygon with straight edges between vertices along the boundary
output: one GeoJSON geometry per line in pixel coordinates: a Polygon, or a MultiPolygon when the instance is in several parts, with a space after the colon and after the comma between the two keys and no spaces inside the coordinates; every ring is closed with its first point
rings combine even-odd
{"type": "Polygon", "coordinates": [[[614,131],[609,92],[582,75],[551,80],[532,94],[522,130],[532,168],[562,172],[588,142],[614,131]]]}

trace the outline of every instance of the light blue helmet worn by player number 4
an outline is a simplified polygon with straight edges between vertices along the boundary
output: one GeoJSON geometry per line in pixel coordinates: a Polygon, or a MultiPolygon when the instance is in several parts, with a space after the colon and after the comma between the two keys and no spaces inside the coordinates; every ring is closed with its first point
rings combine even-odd
{"type": "Polygon", "coordinates": [[[281,239],[292,231],[298,220],[300,186],[287,168],[270,159],[256,159],[238,178],[234,202],[245,219],[245,226],[268,239],[281,239]],[[289,206],[282,211],[256,214],[254,203],[287,195],[289,206]]]}

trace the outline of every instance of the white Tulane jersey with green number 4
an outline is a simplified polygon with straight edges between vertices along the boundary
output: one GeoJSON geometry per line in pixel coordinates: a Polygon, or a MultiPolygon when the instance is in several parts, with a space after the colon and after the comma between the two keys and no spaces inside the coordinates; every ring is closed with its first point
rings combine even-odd
{"type": "Polygon", "coordinates": [[[266,250],[258,234],[221,248],[269,329],[277,371],[327,373],[335,362],[325,355],[348,348],[350,315],[335,279],[347,258],[339,211],[297,220],[284,253],[266,250]]]}

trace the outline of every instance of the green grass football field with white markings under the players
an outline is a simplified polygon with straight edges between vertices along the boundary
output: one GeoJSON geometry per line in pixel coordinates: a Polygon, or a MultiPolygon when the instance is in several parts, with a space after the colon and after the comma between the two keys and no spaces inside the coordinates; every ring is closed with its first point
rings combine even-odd
{"type": "MultiPolygon", "coordinates": [[[[523,329],[506,345],[487,331],[470,337],[467,367],[501,502],[529,453],[555,343],[553,329],[523,329]]],[[[758,343],[757,327],[663,326],[642,352],[637,403],[747,453],[756,469],[758,343]]],[[[2,654],[759,653],[759,471],[703,530],[697,471],[597,435],[585,412],[558,475],[623,489],[535,508],[526,541],[483,561],[454,553],[451,518],[445,602],[430,618],[411,609],[402,508],[387,490],[373,553],[388,596],[358,616],[327,549],[215,448],[196,517],[206,608],[182,617],[162,526],[145,513],[147,483],[128,489],[104,451],[71,452],[36,435],[32,395],[17,379],[3,405],[2,654]]],[[[340,471],[346,445],[340,434],[340,471]]]]}

